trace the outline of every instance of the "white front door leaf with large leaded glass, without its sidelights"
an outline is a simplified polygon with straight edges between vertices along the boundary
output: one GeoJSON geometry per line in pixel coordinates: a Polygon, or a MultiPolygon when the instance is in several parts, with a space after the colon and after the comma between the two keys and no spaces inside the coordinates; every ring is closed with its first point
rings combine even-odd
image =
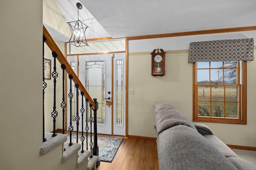
{"type": "Polygon", "coordinates": [[[112,105],[106,105],[112,101],[112,54],[79,55],[79,79],[92,99],[97,99],[98,133],[112,134],[112,105]]]}

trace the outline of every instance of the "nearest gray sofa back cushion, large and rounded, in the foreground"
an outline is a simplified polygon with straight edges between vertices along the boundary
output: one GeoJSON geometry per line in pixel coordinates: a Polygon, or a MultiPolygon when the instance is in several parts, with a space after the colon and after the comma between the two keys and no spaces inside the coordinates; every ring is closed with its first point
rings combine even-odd
{"type": "Polygon", "coordinates": [[[160,170],[236,170],[237,168],[196,130],[178,125],[158,135],[160,170]]]}

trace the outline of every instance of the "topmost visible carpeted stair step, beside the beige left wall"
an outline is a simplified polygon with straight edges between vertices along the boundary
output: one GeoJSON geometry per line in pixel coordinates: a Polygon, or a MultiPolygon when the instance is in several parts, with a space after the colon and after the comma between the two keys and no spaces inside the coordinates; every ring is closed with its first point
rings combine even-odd
{"type": "Polygon", "coordinates": [[[60,134],[57,133],[55,137],[52,137],[53,133],[45,132],[44,136],[46,138],[46,141],[43,142],[43,146],[40,148],[40,156],[43,156],[59,146],[60,144],[63,144],[68,139],[66,134],[60,134]]]}

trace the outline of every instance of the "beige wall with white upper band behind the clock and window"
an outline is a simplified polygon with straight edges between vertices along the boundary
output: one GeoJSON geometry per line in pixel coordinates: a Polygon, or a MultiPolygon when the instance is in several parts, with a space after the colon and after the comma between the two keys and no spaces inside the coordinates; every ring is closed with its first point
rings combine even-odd
{"type": "MultiPolygon", "coordinates": [[[[192,121],[192,64],[188,63],[189,43],[236,38],[256,40],[256,32],[129,41],[128,88],[134,89],[134,95],[128,95],[128,134],[157,137],[153,129],[153,105],[161,101],[170,103],[192,121]],[[166,51],[166,75],[163,77],[151,75],[150,53],[158,47],[166,51]]],[[[203,123],[226,144],[256,146],[255,73],[256,61],[248,61],[247,125],[203,123]]]]}

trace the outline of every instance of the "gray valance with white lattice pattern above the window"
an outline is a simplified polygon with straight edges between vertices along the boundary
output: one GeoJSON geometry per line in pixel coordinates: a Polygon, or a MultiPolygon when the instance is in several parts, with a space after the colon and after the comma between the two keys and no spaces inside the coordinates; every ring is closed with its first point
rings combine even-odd
{"type": "Polygon", "coordinates": [[[254,60],[253,38],[190,43],[188,63],[254,60]]]}

